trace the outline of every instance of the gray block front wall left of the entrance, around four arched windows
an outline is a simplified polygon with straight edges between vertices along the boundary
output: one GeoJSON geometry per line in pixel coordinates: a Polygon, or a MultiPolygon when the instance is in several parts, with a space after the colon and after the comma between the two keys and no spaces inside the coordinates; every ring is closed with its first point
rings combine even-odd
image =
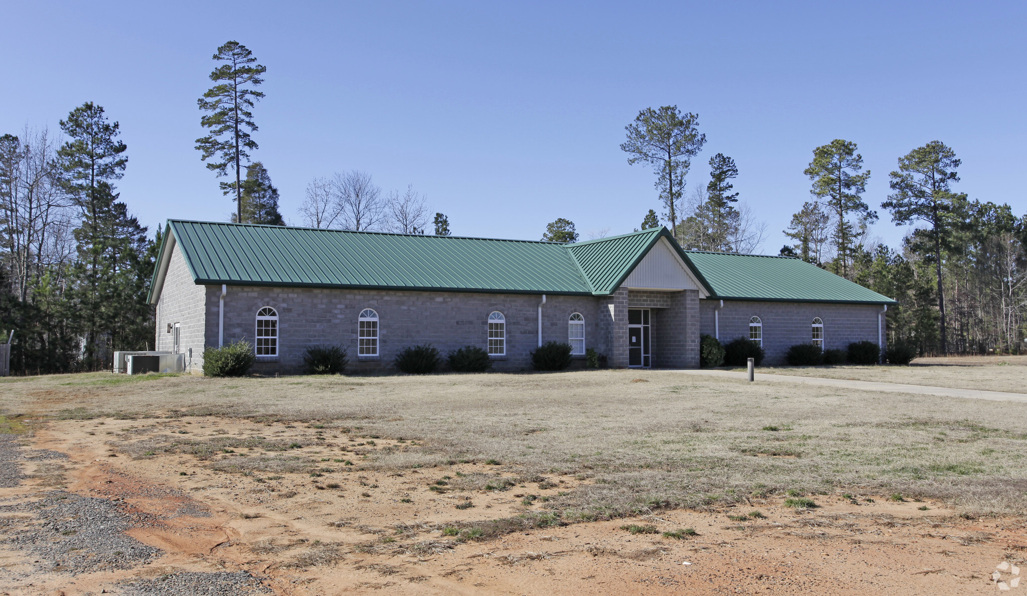
{"type": "MultiPolygon", "coordinates": [[[[218,342],[220,287],[206,294],[207,345],[218,342]]],[[[626,299],[626,293],[624,294],[626,299]]],[[[256,336],[256,315],[263,306],[278,312],[278,358],[258,362],[254,372],[297,373],[303,370],[303,350],[310,344],[341,343],[349,370],[394,370],[404,347],[431,343],[445,356],[464,345],[488,348],[488,316],[493,310],[506,319],[506,356],[494,369],[530,370],[530,352],[538,344],[538,303],[541,295],[463,292],[404,292],[386,290],[229,287],[225,298],[225,343],[256,336]],[[357,357],[357,316],[374,308],[379,316],[379,357],[357,357]]],[[[579,312],[585,321],[585,347],[607,350],[599,316],[599,300],[592,296],[553,296],[542,306],[542,341],[568,340],[568,320],[579,312]]],[[[624,312],[626,323],[626,311],[624,312]]],[[[626,359],[626,356],[625,356],[626,359]]]]}

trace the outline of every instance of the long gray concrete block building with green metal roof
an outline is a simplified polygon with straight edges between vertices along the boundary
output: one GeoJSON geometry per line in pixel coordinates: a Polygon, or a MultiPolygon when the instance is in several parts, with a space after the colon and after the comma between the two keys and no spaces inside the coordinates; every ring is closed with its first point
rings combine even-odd
{"type": "Polygon", "coordinates": [[[797,259],[684,251],[664,228],[563,245],[182,220],[150,301],[156,349],[198,372],[204,349],[246,340],[263,374],[300,373],[324,344],[356,372],[424,343],[529,370],[547,341],[613,367],[694,368],[701,334],[749,338],[782,364],[796,343],[883,346],[893,303],[797,259]]]}

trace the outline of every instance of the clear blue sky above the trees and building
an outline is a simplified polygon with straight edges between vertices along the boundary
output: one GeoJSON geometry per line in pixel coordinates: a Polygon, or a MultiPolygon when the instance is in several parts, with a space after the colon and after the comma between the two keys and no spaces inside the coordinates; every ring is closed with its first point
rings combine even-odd
{"type": "MultiPolygon", "coordinates": [[[[7,4],[0,133],[49,125],[84,101],[121,123],[121,197],[143,223],[233,211],[199,159],[196,98],[217,46],[267,66],[255,113],[287,221],[317,176],[365,170],[413,184],[454,233],[538,238],[631,231],[659,211],[623,127],[648,106],[699,115],[767,222],[776,254],[811,150],[859,144],[866,199],[896,159],[935,139],[963,160],[957,188],[1027,211],[1021,183],[1027,3],[52,3],[7,4]]],[[[886,214],[874,233],[896,246],[886,214]]]]}

